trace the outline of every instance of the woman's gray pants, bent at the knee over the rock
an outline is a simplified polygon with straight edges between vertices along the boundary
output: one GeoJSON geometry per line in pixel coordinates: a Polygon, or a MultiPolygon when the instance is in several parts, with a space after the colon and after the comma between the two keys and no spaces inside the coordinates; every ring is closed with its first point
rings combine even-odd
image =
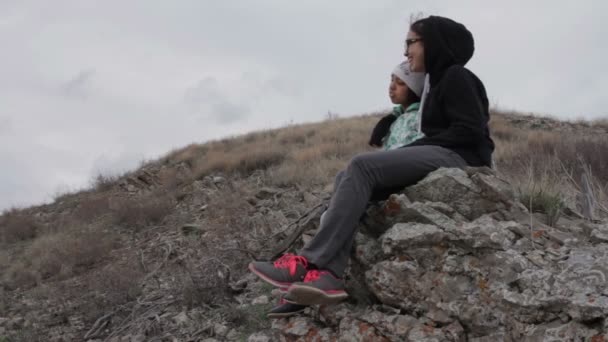
{"type": "Polygon", "coordinates": [[[386,192],[386,189],[396,192],[440,167],[466,165],[458,154],[439,146],[412,146],[356,155],[346,170],[336,176],[334,193],[319,231],[299,254],[319,269],[342,277],[359,219],[375,192],[386,192]]]}

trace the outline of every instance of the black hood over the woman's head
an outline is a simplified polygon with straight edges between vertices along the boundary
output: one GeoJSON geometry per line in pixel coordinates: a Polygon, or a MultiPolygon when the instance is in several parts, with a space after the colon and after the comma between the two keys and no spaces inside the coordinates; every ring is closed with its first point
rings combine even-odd
{"type": "Polygon", "coordinates": [[[438,82],[447,68],[464,66],[473,57],[471,32],[452,19],[430,16],[414,23],[424,39],[424,63],[431,84],[438,82]]]}

